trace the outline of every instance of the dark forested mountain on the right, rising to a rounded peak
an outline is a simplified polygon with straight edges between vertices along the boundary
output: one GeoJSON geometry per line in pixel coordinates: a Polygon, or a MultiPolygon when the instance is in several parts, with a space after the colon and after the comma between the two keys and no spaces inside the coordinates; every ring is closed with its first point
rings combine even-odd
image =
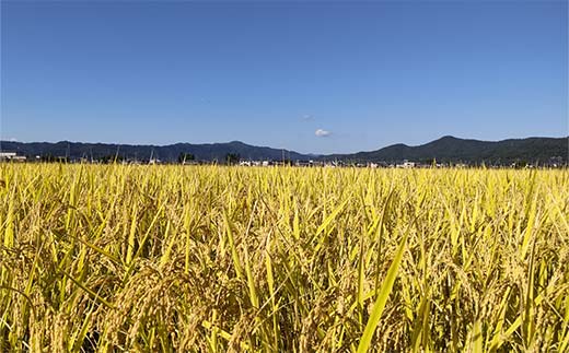
{"type": "Polygon", "coordinates": [[[567,162],[569,138],[527,138],[502,141],[466,140],[446,136],[432,142],[409,146],[393,144],[381,150],[353,154],[327,155],[326,160],[353,162],[397,162],[409,160],[428,162],[498,163],[515,161],[547,162],[551,157],[561,157],[567,162]]]}

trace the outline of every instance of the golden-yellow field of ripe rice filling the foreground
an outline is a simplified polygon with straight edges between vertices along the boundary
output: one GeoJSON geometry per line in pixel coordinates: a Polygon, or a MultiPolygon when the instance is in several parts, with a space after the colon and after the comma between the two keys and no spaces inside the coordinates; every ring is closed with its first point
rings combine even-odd
{"type": "Polygon", "coordinates": [[[0,180],[0,352],[569,350],[567,169],[0,180]]]}

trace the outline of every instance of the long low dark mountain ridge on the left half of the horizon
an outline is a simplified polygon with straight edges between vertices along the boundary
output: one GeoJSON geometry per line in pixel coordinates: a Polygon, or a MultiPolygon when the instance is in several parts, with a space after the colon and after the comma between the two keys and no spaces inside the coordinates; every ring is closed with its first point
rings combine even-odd
{"type": "Polygon", "coordinates": [[[224,161],[227,155],[239,154],[242,160],[309,160],[310,155],[294,151],[254,146],[240,141],[228,143],[176,143],[170,145],[132,145],[132,144],[107,144],[107,143],[81,143],[60,141],[50,142],[11,142],[1,141],[2,151],[18,152],[27,157],[39,156],[69,156],[77,158],[98,160],[105,156],[118,155],[126,160],[148,161],[160,158],[164,162],[176,162],[181,153],[190,153],[196,160],[224,161]]]}

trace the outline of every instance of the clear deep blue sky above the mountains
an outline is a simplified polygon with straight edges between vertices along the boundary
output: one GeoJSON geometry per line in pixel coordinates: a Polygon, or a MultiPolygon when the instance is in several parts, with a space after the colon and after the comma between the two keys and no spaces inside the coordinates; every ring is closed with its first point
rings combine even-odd
{"type": "Polygon", "coordinates": [[[566,1],[2,0],[1,20],[3,140],[330,153],[568,134],[566,1]]]}

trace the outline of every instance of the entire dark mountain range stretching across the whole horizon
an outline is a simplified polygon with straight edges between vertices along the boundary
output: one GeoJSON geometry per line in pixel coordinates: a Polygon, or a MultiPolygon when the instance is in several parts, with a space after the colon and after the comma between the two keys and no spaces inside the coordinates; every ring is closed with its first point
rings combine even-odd
{"type": "Polygon", "coordinates": [[[123,158],[148,161],[160,158],[164,162],[176,162],[181,154],[193,154],[200,161],[224,161],[228,154],[239,155],[241,160],[270,161],[345,161],[345,162],[385,162],[394,163],[403,160],[430,162],[433,158],[443,163],[490,163],[507,164],[515,161],[544,163],[555,158],[568,162],[568,138],[526,138],[502,141],[479,141],[443,137],[426,144],[409,146],[393,144],[380,150],[351,154],[315,155],[294,151],[255,146],[240,141],[227,143],[175,143],[170,145],[133,145],[112,143],[82,143],[60,141],[50,142],[14,142],[1,141],[0,150],[16,152],[28,158],[36,156],[67,156],[78,158],[102,158],[118,155],[123,158]]]}

